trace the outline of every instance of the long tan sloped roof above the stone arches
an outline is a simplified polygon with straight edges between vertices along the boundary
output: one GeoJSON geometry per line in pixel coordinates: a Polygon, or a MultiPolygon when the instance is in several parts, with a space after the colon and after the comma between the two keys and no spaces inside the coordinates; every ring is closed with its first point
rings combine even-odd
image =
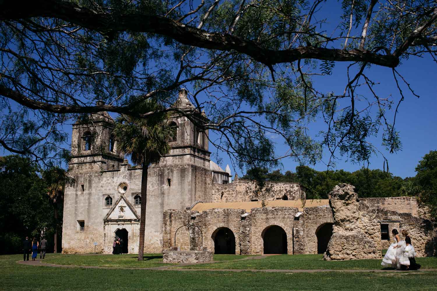
{"type": "MultiPolygon", "coordinates": [[[[306,207],[315,207],[329,205],[329,200],[306,200],[306,207]]],[[[267,201],[267,207],[296,207],[299,211],[302,211],[302,202],[300,200],[269,200],[267,201]]],[[[194,205],[192,210],[202,212],[203,210],[213,209],[213,208],[229,208],[229,209],[244,209],[246,212],[250,212],[252,208],[260,208],[261,201],[250,201],[250,202],[215,202],[215,203],[197,203],[194,205]]]]}

